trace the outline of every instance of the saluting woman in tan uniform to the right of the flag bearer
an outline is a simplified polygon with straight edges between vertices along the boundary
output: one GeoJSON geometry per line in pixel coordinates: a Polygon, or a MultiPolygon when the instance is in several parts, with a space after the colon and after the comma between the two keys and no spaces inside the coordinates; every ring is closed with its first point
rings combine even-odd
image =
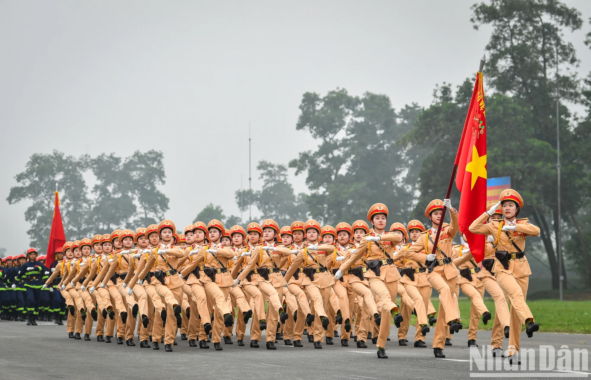
{"type": "MultiPolygon", "coordinates": [[[[495,273],[496,282],[508,294],[511,301],[507,351],[509,356],[519,352],[522,324],[525,325],[525,333],[529,338],[540,329],[525,303],[531,274],[530,264],[525,256],[525,239],[528,236],[540,235],[540,228],[531,224],[528,218],[517,219],[522,207],[521,195],[514,189],[506,189],[501,192],[499,203],[485,211],[470,225],[470,232],[492,235],[495,239],[493,245],[496,247],[497,260],[493,266],[493,273],[495,273]],[[495,214],[499,205],[502,206],[505,219],[488,222],[488,218],[495,214]]],[[[509,363],[512,362],[513,358],[509,358],[509,363]]]]}

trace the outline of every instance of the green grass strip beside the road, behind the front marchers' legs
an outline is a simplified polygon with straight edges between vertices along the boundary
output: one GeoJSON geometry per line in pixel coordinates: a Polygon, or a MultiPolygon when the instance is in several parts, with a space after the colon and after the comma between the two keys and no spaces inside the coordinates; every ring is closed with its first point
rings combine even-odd
{"type": "MultiPolygon", "coordinates": [[[[432,298],[431,302],[435,310],[438,310],[439,299],[432,298]]],[[[491,298],[485,297],[484,303],[494,319],[495,302],[491,298]]],[[[460,316],[466,329],[470,320],[471,303],[466,297],[460,297],[458,304],[460,316]]],[[[540,332],[591,334],[591,301],[532,300],[527,304],[534,315],[535,322],[540,325],[540,332]]],[[[491,330],[493,319],[488,322],[488,325],[483,325],[481,319],[478,329],[491,330]]],[[[417,317],[413,315],[411,326],[415,323],[417,323],[417,317]]],[[[522,329],[525,330],[525,326],[522,329]]]]}

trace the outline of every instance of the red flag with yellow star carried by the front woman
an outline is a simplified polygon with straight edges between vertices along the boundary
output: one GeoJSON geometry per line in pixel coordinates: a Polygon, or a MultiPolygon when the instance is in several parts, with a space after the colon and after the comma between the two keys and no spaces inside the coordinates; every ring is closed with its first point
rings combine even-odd
{"type": "Polygon", "coordinates": [[[460,231],[466,235],[470,252],[480,263],[485,253],[485,235],[472,234],[468,228],[486,211],[486,119],[482,73],[476,74],[456,165],[456,186],[462,193],[458,211],[460,231]]]}

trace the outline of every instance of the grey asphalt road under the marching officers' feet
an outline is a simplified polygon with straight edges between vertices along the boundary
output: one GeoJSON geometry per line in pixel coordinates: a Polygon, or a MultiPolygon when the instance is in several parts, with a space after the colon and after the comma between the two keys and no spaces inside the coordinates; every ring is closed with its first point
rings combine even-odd
{"type": "MultiPolygon", "coordinates": [[[[248,330],[247,330],[248,332],[248,330]]],[[[411,327],[414,337],[414,327],[411,327]]],[[[53,322],[39,322],[26,326],[24,322],[0,321],[0,379],[179,379],[204,377],[207,379],[463,379],[470,377],[470,357],[467,349],[467,331],[453,336],[453,346],[446,347],[445,359],[433,356],[431,339],[427,335],[427,348],[398,346],[397,329],[392,327],[391,341],[387,344],[388,359],[378,359],[376,349],[358,349],[353,341],[349,347],[323,344],[314,349],[304,336],[304,347],[294,348],[277,343],[277,350],[223,345],[223,351],[189,347],[187,341],[177,338],[174,352],[128,347],[114,342],[99,343],[92,340],[69,339],[66,326],[53,322]]],[[[412,338],[412,337],[411,337],[412,338]]],[[[264,339],[264,338],[263,338],[264,339]]],[[[488,344],[490,332],[479,332],[478,343],[488,344]]],[[[589,349],[591,335],[536,333],[528,339],[522,334],[522,349],[540,345],[553,345],[559,349],[589,349]]],[[[137,337],[136,337],[136,344],[137,337]]],[[[504,345],[508,344],[505,339],[504,345]]],[[[522,371],[519,371],[522,372],[522,371]]],[[[589,371],[587,371],[589,372],[589,371]]],[[[568,375],[559,372],[552,374],[568,375]]],[[[586,376],[579,374],[579,376],[586,376]]],[[[535,378],[537,376],[533,376],[535,378]]],[[[531,378],[531,377],[530,377],[531,378]]]]}

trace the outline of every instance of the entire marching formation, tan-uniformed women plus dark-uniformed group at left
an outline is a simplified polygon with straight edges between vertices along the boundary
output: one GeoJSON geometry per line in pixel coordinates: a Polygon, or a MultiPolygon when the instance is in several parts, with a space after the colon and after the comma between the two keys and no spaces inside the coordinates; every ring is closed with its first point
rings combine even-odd
{"type": "Polygon", "coordinates": [[[61,325],[67,315],[69,338],[90,340],[96,322],[98,342],[116,337],[118,344],[135,346],[137,333],[141,348],[157,350],[164,343],[166,351],[177,345],[178,329],[191,347],[207,349],[213,342],[223,350],[222,340],[233,344],[233,332],[244,346],[252,319],[251,348],[259,347],[265,330],[269,350],[278,340],[302,347],[304,335],[317,349],[322,342],[333,345],[335,337],[342,346],[353,339],[358,348],[367,348],[371,339],[378,358],[388,358],[392,323],[398,344],[406,346],[414,314],[414,347],[426,347],[424,337],[435,325],[434,355],[444,358],[444,347],[463,328],[459,289],[472,302],[468,346],[476,346],[480,319],[485,324],[492,319],[482,300],[486,290],[495,301],[492,354],[504,356],[503,338],[509,338],[512,363],[518,361],[513,355],[521,326],[529,337],[539,328],[525,303],[531,274],[525,239],[540,229],[517,218],[522,207],[518,192],[506,189],[470,225],[470,232],[487,235],[482,265],[467,244],[453,243],[459,227],[449,199],[428,204],[430,228],[418,220],[388,225],[388,208],[378,203],[368,211],[369,224],[358,220],[335,227],[315,220],[280,227],[267,219],[226,229],[212,220],[177,234],[174,223],[164,220],[137,231],[69,241],[51,268],[31,248],[26,257],[2,259],[2,319],[26,317],[27,325],[36,325],[37,319],[53,317],[61,325]],[[450,223],[442,224],[434,248],[444,206],[450,223]],[[433,288],[439,293],[437,312],[433,288]]]}

